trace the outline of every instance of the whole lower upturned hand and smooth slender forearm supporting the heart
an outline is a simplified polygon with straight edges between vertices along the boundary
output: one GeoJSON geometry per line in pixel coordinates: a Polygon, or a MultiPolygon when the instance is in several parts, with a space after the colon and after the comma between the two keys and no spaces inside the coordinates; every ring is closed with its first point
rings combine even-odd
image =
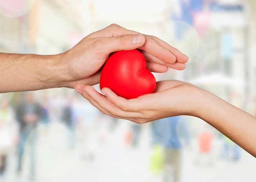
{"type": "Polygon", "coordinates": [[[104,95],[92,86],[75,89],[102,113],[136,123],[178,115],[201,118],[256,157],[256,118],[191,83],[159,81],[153,94],[136,99],[124,99],[109,88],[102,88],[104,95]]]}

